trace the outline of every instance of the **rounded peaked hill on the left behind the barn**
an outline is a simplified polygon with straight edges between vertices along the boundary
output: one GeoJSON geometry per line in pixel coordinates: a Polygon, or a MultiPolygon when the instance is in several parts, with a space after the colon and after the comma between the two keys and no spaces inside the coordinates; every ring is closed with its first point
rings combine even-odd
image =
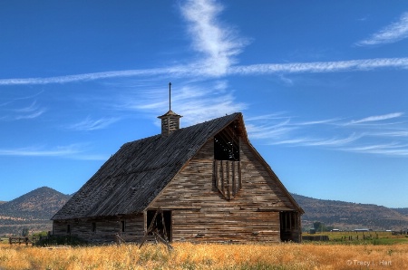
{"type": "Polygon", "coordinates": [[[0,236],[52,229],[50,218],[71,198],[53,188],[37,188],[19,198],[0,204],[0,236]]]}

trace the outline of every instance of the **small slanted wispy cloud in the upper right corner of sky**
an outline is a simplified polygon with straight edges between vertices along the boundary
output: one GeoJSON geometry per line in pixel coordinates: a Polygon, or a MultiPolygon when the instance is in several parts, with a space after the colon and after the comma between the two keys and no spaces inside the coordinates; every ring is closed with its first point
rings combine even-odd
{"type": "Polygon", "coordinates": [[[377,33],[372,34],[369,38],[355,43],[358,46],[371,46],[384,43],[396,43],[408,38],[408,12],[394,22],[385,26],[377,33]]]}

